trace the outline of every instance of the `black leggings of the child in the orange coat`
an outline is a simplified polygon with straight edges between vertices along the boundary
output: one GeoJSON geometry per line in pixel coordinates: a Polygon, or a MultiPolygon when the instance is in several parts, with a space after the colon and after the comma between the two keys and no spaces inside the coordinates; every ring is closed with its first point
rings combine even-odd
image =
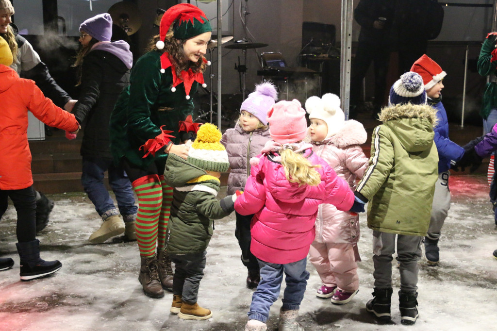
{"type": "Polygon", "coordinates": [[[36,239],[36,199],[33,186],[20,190],[0,190],[0,218],[7,210],[10,197],[17,212],[15,234],[17,242],[25,243],[36,239]]]}

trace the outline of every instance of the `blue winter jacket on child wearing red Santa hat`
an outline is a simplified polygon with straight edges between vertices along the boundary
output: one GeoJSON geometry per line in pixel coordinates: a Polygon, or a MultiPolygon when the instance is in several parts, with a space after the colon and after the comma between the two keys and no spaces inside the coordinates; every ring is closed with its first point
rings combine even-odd
{"type": "Polygon", "coordinates": [[[437,110],[438,124],[433,129],[435,132],[433,141],[438,151],[438,173],[440,173],[450,169],[450,160],[461,160],[464,149],[449,139],[449,122],[442,101],[433,103],[432,99],[428,99],[428,102],[430,101],[432,101],[430,105],[437,110]]]}

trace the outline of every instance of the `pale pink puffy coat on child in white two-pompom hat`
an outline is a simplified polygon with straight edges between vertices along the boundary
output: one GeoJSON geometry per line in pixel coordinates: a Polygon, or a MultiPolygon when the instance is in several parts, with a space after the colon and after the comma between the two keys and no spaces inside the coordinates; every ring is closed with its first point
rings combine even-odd
{"type": "MultiPolygon", "coordinates": [[[[364,126],[348,120],[332,137],[322,142],[312,142],[313,151],[335,170],[336,174],[355,189],[356,178],[362,178],[368,167],[368,158],[360,144],[367,139],[364,126]]],[[[359,241],[359,216],[352,216],[330,204],[319,206],[316,218],[316,238],[318,243],[355,244],[359,241]]]]}

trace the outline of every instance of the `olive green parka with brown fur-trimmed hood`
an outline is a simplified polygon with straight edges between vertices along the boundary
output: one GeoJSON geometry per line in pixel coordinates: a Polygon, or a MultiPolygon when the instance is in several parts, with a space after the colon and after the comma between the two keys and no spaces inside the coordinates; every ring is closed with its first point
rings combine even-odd
{"type": "Polygon", "coordinates": [[[383,108],[373,131],[371,158],[356,196],[368,203],[368,227],[425,236],[430,223],[438,153],[433,142],[437,117],[428,105],[383,108]]]}

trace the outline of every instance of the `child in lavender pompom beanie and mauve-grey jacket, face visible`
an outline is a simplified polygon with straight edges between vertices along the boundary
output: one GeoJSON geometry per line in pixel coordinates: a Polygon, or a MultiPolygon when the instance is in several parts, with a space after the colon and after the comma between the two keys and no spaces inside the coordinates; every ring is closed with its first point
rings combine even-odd
{"type": "MultiPolygon", "coordinates": [[[[250,158],[260,154],[264,144],[271,140],[266,114],[274,105],[278,92],[272,83],[255,86],[240,107],[240,118],[235,128],[226,130],[221,144],[226,147],[230,160],[228,194],[243,191],[250,175],[250,158]]],[[[257,258],[250,252],[250,221],[253,215],[236,213],[235,237],[242,249],[242,263],[248,269],[247,287],[256,288],[260,280],[257,258]]]]}

